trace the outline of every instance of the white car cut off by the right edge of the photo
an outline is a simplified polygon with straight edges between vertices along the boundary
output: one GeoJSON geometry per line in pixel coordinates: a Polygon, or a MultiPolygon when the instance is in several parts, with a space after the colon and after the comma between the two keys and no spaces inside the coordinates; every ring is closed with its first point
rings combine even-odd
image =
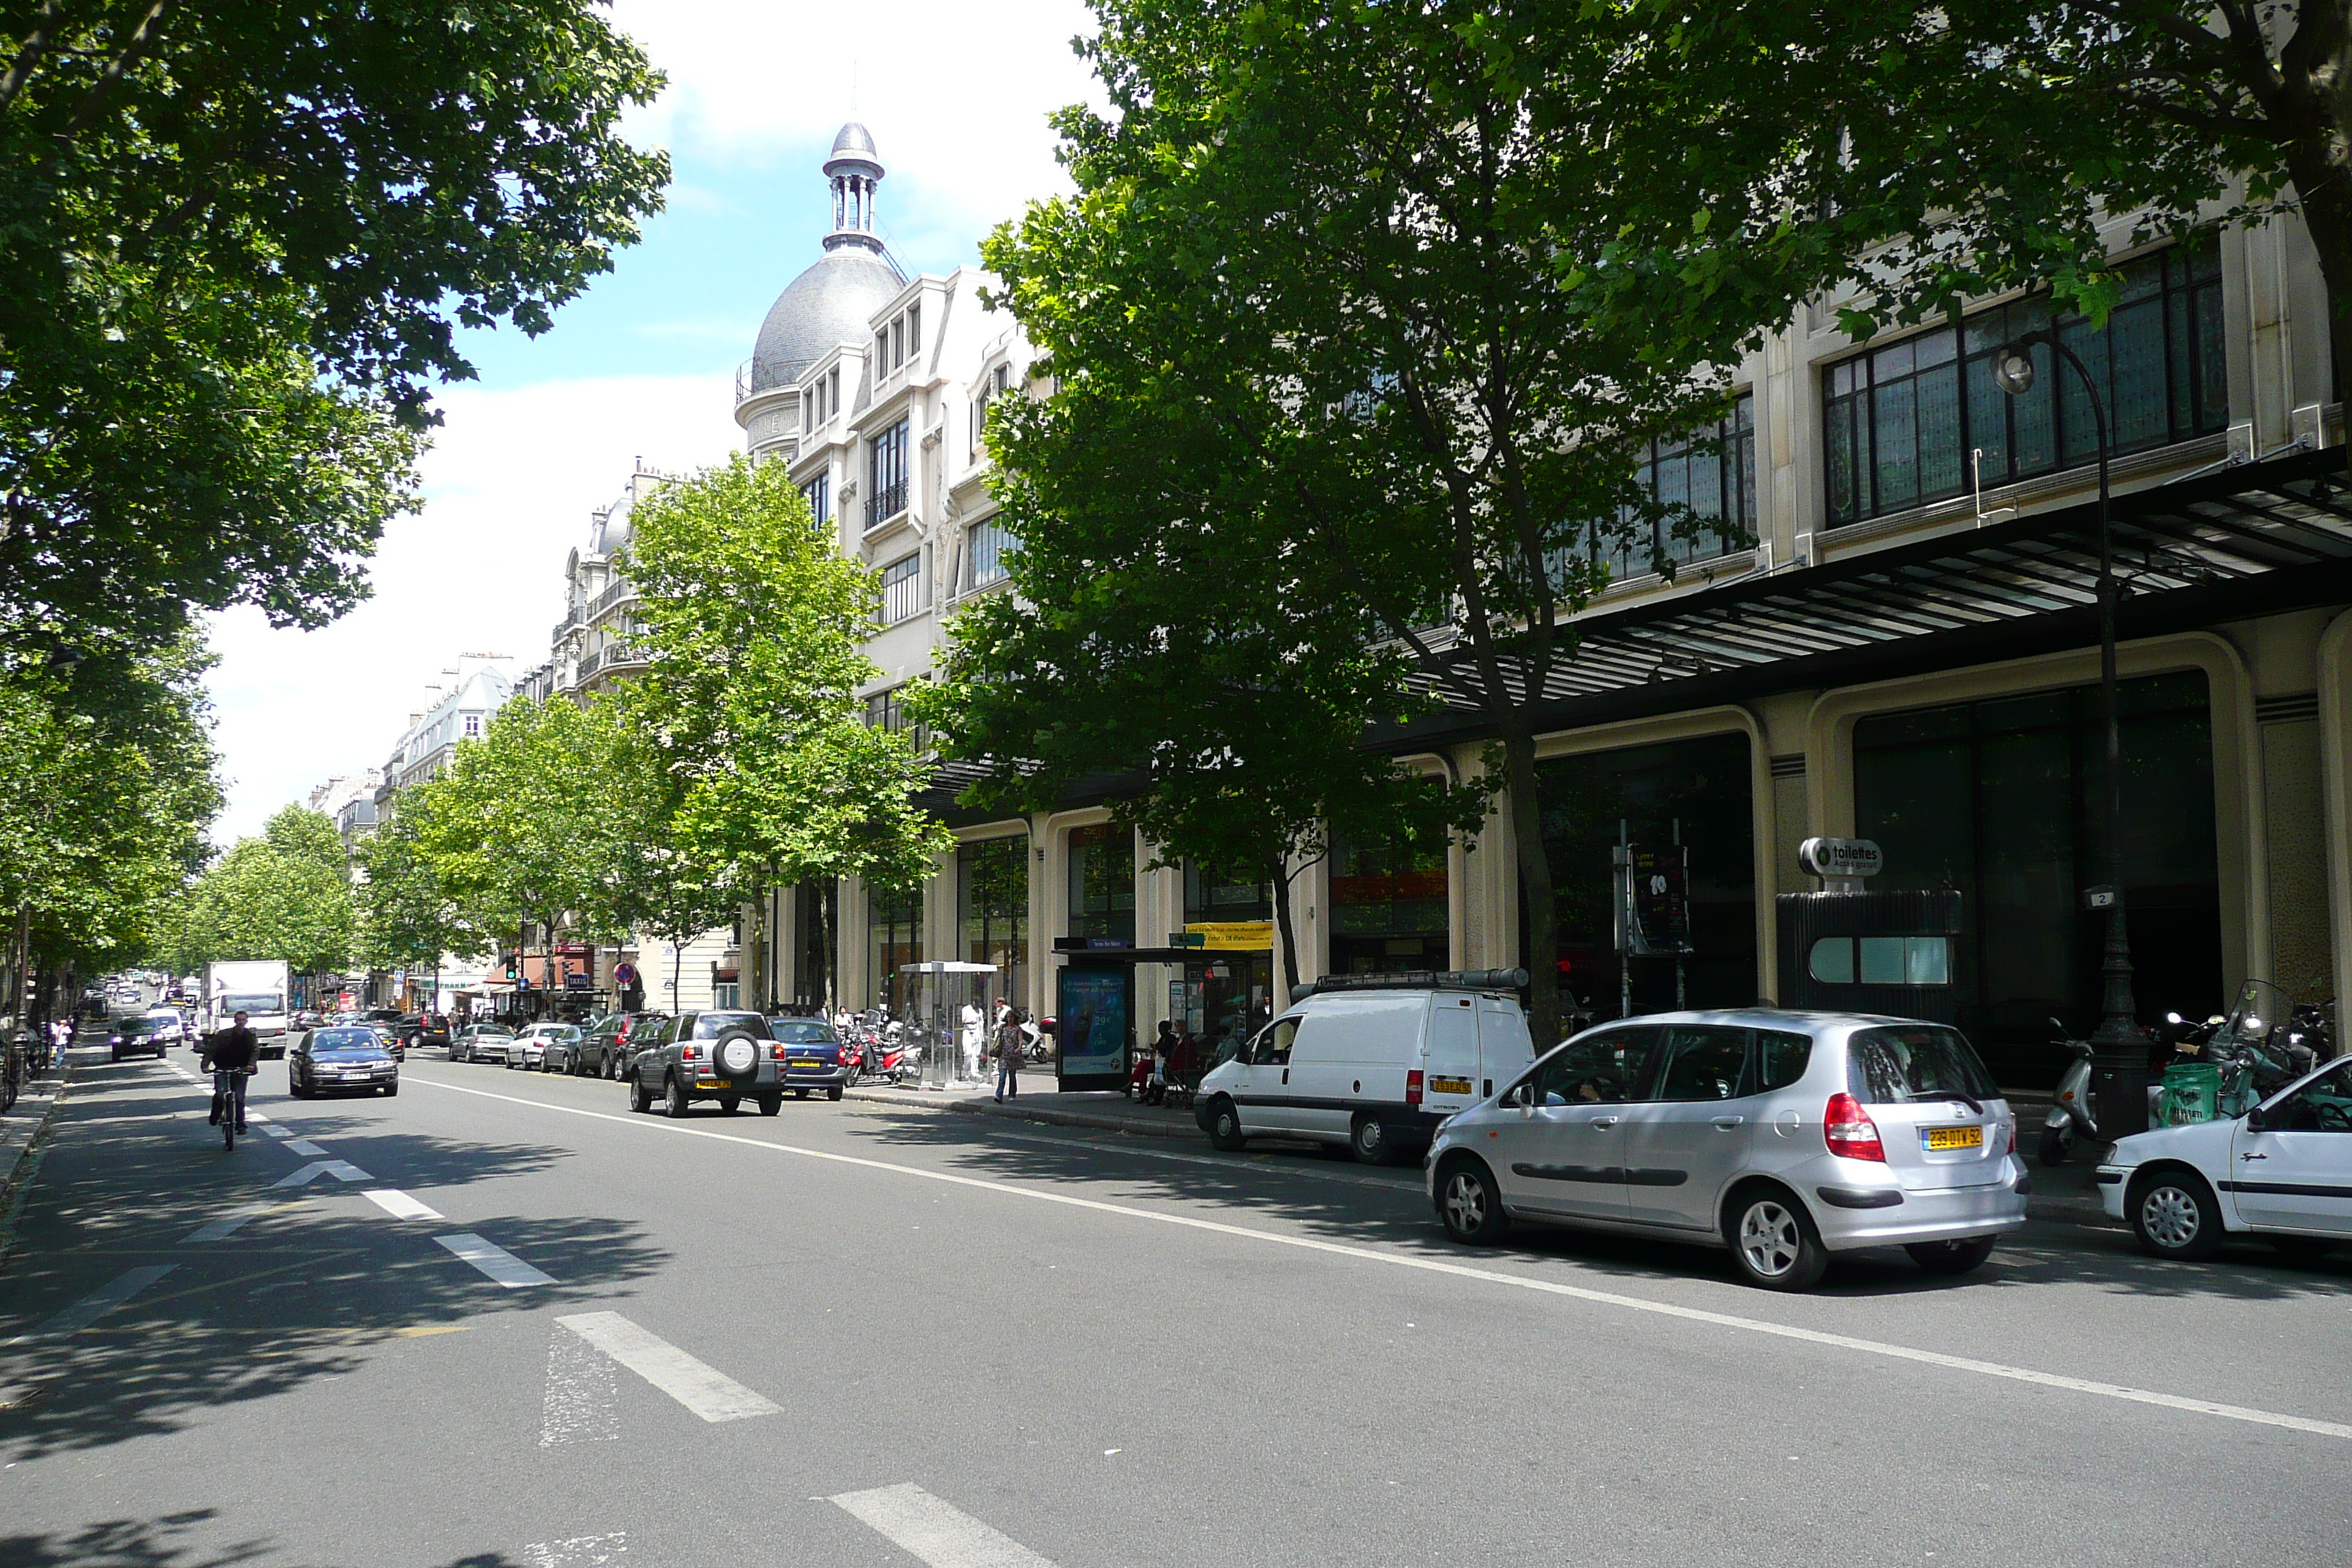
{"type": "Polygon", "coordinates": [[[2133,1133],[2098,1182],[2107,1215],[2157,1258],[2211,1258],[2237,1234],[2286,1253],[2352,1244],[2352,1056],[2244,1117],[2133,1133]]]}

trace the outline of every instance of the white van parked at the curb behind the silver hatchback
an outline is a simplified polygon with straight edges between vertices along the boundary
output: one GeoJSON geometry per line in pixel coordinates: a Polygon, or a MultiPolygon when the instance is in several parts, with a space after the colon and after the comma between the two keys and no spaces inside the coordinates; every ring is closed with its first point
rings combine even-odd
{"type": "Polygon", "coordinates": [[[1209,1143],[1258,1133],[1348,1145],[1369,1166],[1430,1143],[1437,1124],[1536,1060],[1517,987],[1526,971],[1338,976],[1200,1081],[1209,1143]]]}

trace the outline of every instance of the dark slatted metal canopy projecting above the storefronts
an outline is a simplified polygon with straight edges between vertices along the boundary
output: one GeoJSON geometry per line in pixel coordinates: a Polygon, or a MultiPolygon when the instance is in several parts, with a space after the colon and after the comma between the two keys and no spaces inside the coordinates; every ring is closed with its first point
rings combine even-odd
{"type": "MultiPolygon", "coordinates": [[[[2126,639],[2352,599],[2343,449],[2246,463],[2117,496],[2126,639]]],[[[1602,724],[1802,686],[1891,679],[2098,639],[2098,505],[2013,517],[1820,567],[1755,574],[1578,616],[1541,693],[1543,729],[1602,724]]],[[[1416,684],[1451,712],[1397,738],[1477,733],[1468,646],[1416,684]],[[1463,682],[1444,679],[1444,670],[1463,682]]],[[[1383,750],[1390,750],[1383,745],[1383,750]]]]}

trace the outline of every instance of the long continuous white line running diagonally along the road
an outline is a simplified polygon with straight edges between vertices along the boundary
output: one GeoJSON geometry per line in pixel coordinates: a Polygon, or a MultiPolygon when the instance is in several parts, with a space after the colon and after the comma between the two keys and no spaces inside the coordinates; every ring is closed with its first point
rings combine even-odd
{"type": "Polygon", "coordinates": [[[898,1166],[887,1159],[868,1159],[863,1154],[835,1154],[830,1150],[802,1150],[790,1143],[769,1143],[764,1138],[743,1138],[739,1133],[720,1133],[701,1126],[680,1126],[668,1119],[649,1117],[621,1117],[600,1110],[583,1110],[574,1105],[550,1105],[548,1100],[524,1100],[522,1095],[501,1095],[487,1088],[466,1088],[461,1084],[435,1084],[433,1079],[414,1079],[430,1088],[447,1088],[461,1095],[482,1095],[485,1100],[506,1100],[508,1105],[529,1105],[534,1110],[553,1110],[567,1117],[590,1117],[595,1121],[616,1121],[621,1126],[633,1126],[649,1133],[675,1133],[680,1138],[713,1138],[717,1143],[739,1143],[750,1150],[769,1150],[771,1154],[795,1154],[800,1159],[823,1159],[837,1166],[856,1166],[861,1171],[889,1171],[894,1175],[915,1175],[927,1182],[943,1182],[948,1187],[971,1187],[978,1192],[1004,1192],[1009,1197],[1030,1199],[1037,1204],[1061,1204],[1065,1208],[1087,1208],[1094,1213],[1115,1213],[1129,1220],[1150,1220],[1152,1225],[1176,1225],[1183,1229],[1204,1229],[1218,1237],[1240,1237],[1244,1241],[1263,1241],[1270,1246],[1294,1246],[1308,1253],[1329,1253],[1334,1258],[1355,1258],[1359,1262],[1381,1262],[1392,1269],[1421,1269],[1423,1274],[1451,1274],[1454,1279],[1477,1279],[1494,1286],[1510,1286],[1515,1291],[1538,1291],[1543,1295],[1564,1295],[1569,1300],[1590,1302],[1595,1307],[1616,1307],[1621,1312],[1651,1312],[1656,1316],[1672,1316],[1686,1324],[1710,1324],[1715,1328],[1733,1328],[1740,1333],[1762,1333],[1778,1340],[1802,1340],[1806,1345],[1828,1345],[1832,1349],[1853,1349],[1867,1356],[1886,1356],[1891,1361],[1917,1361],[1919,1366],[1940,1366],[1955,1373],[1976,1373],[1980,1378],[2004,1378],[2009,1382],[2030,1382],[2046,1389],[2067,1389],[2070,1394],[2093,1394],[2098,1399],[2122,1399],[2126,1403],[2157,1406],[2164,1410],[2183,1410],[2187,1415],[2216,1415],[2220,1420],[2251,1422],[2256,1427],[2284,1427],[2286,1432],[2310,1432],[2312,1436],[2333,1436],[2352,1441],[2352,1425],[2336,1420],[2312,1420],[2305,1415],[2284,1415],[2279,1410],[2256,1410],[2251,1406],[2230,1406],[2211,1399],[2187,1399],[2183,1394],[2159,1394],[2154,1389],[2136,1389],[2122,1382],[2096,1382],[2091,1378],[2063,1378],[2058,1373],[2042,1373],[2030,1366],[2004,1366],[2002,1361],[1980,1361],[1976,1356],[1947,1356],[1936,1349],[1912,1349],[1910,1345],[1889,1345],[1884,1340],[1858,1340],[1846,1333],[1823,1333],[1820,1328],[1797,1328],[1795,1324],[1771,1324],[1752,1316],[1733,1316],[1729,1312],[1708,1312],[1703,1307],[1677,1307],[1672,1302],[1644,1300],[1639,1295],[1618,1295],[1613,1291],[1592,1291],[1585,1286],[1569,1286],[1552,1279],[1529,1279],[1526,1274],[1505,1274],[1501,1269],[1479,1269],[1468,1262],[1446,1262],[1442,1258],[1416,1258],[1411,1253],[1390,1253],[1371,1246],[1350,1246],[1345,1241],[1319,1241],[1315,1237],[1284,1237],[1272,1229],[1254,1229],[1249,1225],[1228,1225],[1223,1220],[1202,1220],[1188,1213],[1162,1213],[1157,1208],[1134,1208],[1129,1204],[1105,1204],[1103,1199],[1082,1199],[1068,1192],[1042,1192],[1037,1187],[1016,1187],[1011,1182],[993,1182],[978,1175],[955,1175],[953,1171],[924,1171],[920,1166],[898,1166]]]}

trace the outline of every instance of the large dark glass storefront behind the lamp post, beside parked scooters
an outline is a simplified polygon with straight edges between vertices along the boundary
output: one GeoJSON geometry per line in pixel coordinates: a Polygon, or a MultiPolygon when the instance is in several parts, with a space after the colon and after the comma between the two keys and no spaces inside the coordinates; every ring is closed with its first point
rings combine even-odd
{"type": "MultiPolygon", "coordinates": [[[[2223,1004],[2213,726],[2201,672],[2122,686],[2124,907],[2140,1018],[2223,1004]]],[[[1853,825],[1886,851],[1877,889],[1959,889],[1971,964],[1959,1023],[2004,1084],[2070,1060],[2058,1016],[2098,1023],[2105,882],[2098,686],[1891,712],[1853,726],[1853,825]]]]}

